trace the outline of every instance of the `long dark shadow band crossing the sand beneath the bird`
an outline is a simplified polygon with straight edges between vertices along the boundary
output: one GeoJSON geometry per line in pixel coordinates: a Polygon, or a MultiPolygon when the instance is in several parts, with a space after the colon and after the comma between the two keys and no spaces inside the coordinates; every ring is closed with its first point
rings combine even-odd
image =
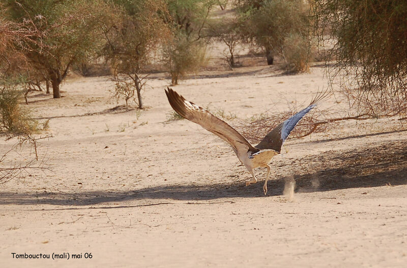
{"type": "MultiPolygon", "coordinates": [[[[283,168],[275,174],[276,179],[268,183],[268,196],[281,195],[284,181],[290,178],[295,179],[296,191],[300,192],[404,185],[407,184],[407,144],[405,141],[397,141],[352,151],[328,151],[296,159],[291,164],[285,163],[282,166],[283,168]],[[304,169],[304,166],[307,168],[304,169]]],[[[263,177],[260,176],[260,178],[263,177]]],[[[188,202],[210,200],[210,202],[216,202],[218,198],[264,196],[262,187],[263,182],[261,181],[248,187],[244,186],[243,181],[235,181],[204,185],[166,185],[110,192],[63,193],[44,191],[22,194],[3,192],[0,197],[0,205],[49,204],[55,206],[88,206],[84,209],[89,209],[89,206],[99,204],[95,209],[130,208],[151,205],[111,206],[111,204],[104,203],[143,199],[161,199],[160,201],[165,199],[168,202],[164,204],[170,203],[171,200],[188,202]]]]}

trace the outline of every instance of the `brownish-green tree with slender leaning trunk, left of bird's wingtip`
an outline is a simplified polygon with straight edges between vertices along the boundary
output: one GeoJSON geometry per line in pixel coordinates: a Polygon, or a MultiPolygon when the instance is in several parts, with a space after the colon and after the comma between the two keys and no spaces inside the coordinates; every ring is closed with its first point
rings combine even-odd
{"type": "Polygon", "coordinates": [[[141,90],[146,76],[143,77],[142,72],[153,59],[158,44],[169,36],[166,6],[163,1],[152,0],[116,0],[114,3],[109,19],[99,20],[106,41],[101,56],[112,67],[116,95],[124,92],[126,98],[129,97],[127,104],[135,90],[138,108],[143,109],[141,90]]]}

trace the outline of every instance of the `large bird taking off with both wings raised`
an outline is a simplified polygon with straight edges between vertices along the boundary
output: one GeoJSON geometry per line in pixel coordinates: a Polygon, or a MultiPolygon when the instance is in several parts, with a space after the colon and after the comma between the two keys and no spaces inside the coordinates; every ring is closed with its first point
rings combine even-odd
{"type": "Polygon", "coordinates": [[[271,130],[264,139],[252,146],[235,128],[228,125],[223,120],[211,114],[208,110],[188,102],[183,96],[167,87],[165,90],[168,102],[179,115],[197,123],[208,131],[211,131],[216,136],[230,144],[235,151],[239,160],[245,165],[246,169],[253,176],[252,179],[246,180],[246,186],[251,183],[257,182],[254,176],[253,169],[267,168],[266,181],[263,186],[264,194],[267,194],[267,181],[270,175],[270,161],[271,159],[280,154],[281,146],[287,139],[289,133],[294,129],[297,123],[306,115],[318,102],[326,98],[328,93],[318,92],[312,99],[307,108],[296,113],[284,122],[277,125],[271,130]]]}

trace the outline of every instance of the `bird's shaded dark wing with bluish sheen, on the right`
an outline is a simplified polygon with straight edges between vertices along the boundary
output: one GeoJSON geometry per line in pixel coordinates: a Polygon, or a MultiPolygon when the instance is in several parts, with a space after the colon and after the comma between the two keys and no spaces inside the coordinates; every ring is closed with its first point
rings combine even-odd
{"type": "Polygon", "coordinates": [[[272,149],[277,152],[281,151],[281,146],[288,138],[289,133],[293,131],[294,127],[298,122],[309,112],[316,104],[329,96],[329,92],[322,91],[318,92],[312,99],[309,106],[300,112],[296,113],[292,117],[288,118],[281,124],[277,125],[273,130],[271,130],[264,139],[257,144],[255,147],[258,149],[272,149]]]}

